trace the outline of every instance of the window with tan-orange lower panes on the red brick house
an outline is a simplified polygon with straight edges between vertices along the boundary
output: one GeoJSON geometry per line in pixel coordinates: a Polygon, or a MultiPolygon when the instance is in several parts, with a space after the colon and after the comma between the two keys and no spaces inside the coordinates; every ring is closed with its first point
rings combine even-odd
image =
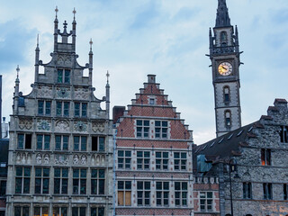
{"type": "Polygon", "coordinates": [[[118,181],[118,206],[131,205],[131,181],[118,181]]]}

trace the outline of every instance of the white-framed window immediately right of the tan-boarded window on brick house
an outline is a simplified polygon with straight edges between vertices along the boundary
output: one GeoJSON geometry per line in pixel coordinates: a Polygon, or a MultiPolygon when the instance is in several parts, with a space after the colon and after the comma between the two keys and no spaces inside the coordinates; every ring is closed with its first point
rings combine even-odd
{"type": "Polygon", "coordinates": [[[137,182],[137,205],[149,206],[150,205],[150,182],[137,182]]]}

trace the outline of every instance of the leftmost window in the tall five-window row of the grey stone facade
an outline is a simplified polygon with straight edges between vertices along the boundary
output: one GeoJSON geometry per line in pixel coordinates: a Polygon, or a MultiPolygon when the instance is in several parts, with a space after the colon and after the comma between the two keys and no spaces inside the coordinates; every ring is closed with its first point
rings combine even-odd
{"type": "Polygon", "coordinates": [[[30,167],[16,167],[15,193],[30,193],[30,167]]]}

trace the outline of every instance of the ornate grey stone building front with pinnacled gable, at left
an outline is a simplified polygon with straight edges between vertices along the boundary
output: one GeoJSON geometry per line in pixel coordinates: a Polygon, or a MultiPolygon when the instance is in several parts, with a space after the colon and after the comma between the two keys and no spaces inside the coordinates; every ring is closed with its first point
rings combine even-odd
{"type": "MultiPolygon", "coordinates": [[[[76,62],[76,21],[58,30],[55,19],[51,61],[39,60],[31,94],[19,93],[17,76],[11,115],[7,216],[112,215],[112,121],[109,84],[106,110],[92,87],[89,64],[76,62]],[[58,42],[58,35],[62,41],[58,42]],[[72,43],[67,37],[72,37],[72,43]],[[44,67],[44,74],[39,73],[44,67]],[[83,76],[84,70],[89,76],[83,76]],[[20,104],[20,101],[22,103],[20,104]]],[[[92,43],[91,43],[92,45],[92,43]]]]}

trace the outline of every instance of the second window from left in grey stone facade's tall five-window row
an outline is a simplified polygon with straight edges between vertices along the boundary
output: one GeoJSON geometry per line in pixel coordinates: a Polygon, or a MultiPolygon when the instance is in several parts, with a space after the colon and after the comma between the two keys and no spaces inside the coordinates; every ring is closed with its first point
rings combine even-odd
{"type": "Polygon", "coordinates": [[[49,193],[49,168],[35,168],[35,193],[49,193]]]}

